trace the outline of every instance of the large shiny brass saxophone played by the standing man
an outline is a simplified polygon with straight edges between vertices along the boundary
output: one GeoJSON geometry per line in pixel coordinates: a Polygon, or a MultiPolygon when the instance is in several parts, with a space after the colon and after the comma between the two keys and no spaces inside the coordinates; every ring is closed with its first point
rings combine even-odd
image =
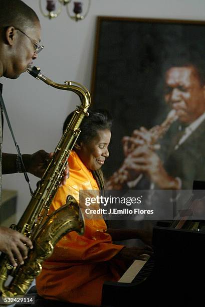
{"type": "Polygon", "coordinates": [[[51,256],[55,244],[70,231],[84,233],[84,223],[80,219],[78,203],[72,196],[68,196],[66,205],[51,215],[48,215],[48,210],[59,187],[70,152],[81,132],[80,124],[84,116],[89,115],[87,110],[90,105],[90,93],[86,87],[73,81],[66,81],[65,84],[55,83],[42,75],[41,70],[37,67],[30,67],[27,71],[33,77],[57,89],[75,92],[81,100],[81,105],[77,106],[74,111],[26,211],[19,223],[12,227],[29,237],[34,247],[29,251],[24,264],[17,268],[10,264],[5,254],[2,255],[0,291],[3,297],[24,295],[33,279],[40,274],[42,262],[51,256]],[[12,276],[13,279],[6,286],[5,283],[9,276],[12,276]]]}

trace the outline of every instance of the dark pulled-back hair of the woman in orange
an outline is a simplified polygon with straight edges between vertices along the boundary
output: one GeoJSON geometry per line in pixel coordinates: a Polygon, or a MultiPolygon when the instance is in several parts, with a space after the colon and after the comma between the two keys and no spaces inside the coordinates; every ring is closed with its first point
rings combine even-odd
{"type": "MultiPolygon", "coordinates": [[[[68,115],[63,125],[63,132],[65,131],[67,125],[69,124],[72,116],[68,115]]],[[[95,138],[98,134],[99,130],[111,129],[112,126],[112,117],[107,110],[104,109],[96,109],[96,110],[88,110],[89,116],[85,116],[81,125],[81,133],[78,137],[78,143],[89,143],[93,138],[95,138]]]]}

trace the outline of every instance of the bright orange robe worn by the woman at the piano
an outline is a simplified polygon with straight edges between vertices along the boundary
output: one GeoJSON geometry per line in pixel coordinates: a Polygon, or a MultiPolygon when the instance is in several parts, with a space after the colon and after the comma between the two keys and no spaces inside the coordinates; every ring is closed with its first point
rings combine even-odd
{"type": "MultiPolygon", "coordinates": [[[[79,201],[79,190],[99,190],[75,151],[69,166],[70,177],[58,189],[51,210],[64,205],[68,195],[79,201]]],[[[103,219],[86,219],[83,236],[76,231],[64,236],[37,277],[38,293],[49,299],[99,306],[104,281],[118,280],[126,269],[121,261],[112,259],[123,246],[112,244],[106,229],[103,219]]]]}

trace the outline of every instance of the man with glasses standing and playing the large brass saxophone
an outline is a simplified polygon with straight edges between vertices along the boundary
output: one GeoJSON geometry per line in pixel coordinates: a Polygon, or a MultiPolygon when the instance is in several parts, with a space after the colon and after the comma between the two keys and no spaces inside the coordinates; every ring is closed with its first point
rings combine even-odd
{"type": "MultiPolygon", "coordinates": [[[[43,49],[40,45],[41,26],[36,13],[20,0],[0,0],[0,8],[0,77],[16,79],[27,70],[43,49]]],[[[0,91],[2,92],[1,83],[0,91]]],[[[2,130],[0,116],[0,186],[2,173],[21,171],[18,155],[1,152],[2,130]]],[[[33,155],[23,155],[26,171],[41,178],[52,155],[44,150],[33,155]]],[[[68,178],[68,168],[64,174],[63,183],[68,178]]],[[[0,251],[8,255],[12,265],[24,263],[28,254],[27,247],[32,248],[29,238],[10,228],[0,227],[0,251]]]]}

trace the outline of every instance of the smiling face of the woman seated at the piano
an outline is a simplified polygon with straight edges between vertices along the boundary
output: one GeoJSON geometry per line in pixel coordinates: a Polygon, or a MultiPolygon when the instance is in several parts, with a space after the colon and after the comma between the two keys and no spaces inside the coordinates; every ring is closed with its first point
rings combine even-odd
{"type": "Polygon", "coordinates": [[[77,150],[77,153],[89,170],[96,171],[100,169],[105,159],[109,157],[108,145],[110,138],[110,130],[99,130],[98,135],[89,143],[81,143],[81,148],[77,150]]]}

